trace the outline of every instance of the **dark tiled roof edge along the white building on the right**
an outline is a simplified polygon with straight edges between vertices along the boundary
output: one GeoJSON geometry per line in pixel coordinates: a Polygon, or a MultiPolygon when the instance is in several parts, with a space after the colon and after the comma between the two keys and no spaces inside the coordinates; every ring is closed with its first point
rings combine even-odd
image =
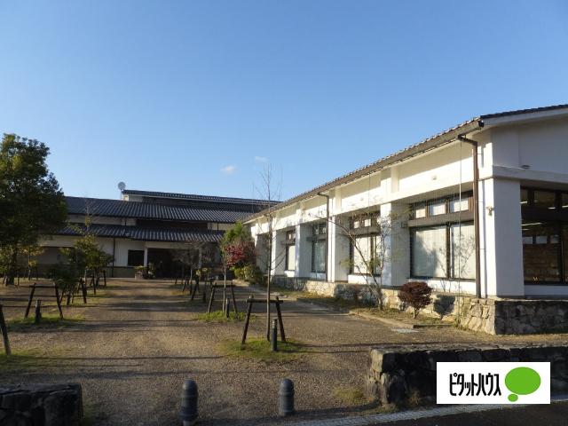
{"type": "Polygon", "coordinates": [[[372,162],[370,164],[367,164],[366,166],[363,166],[357,170],[353,170],[341,177],[336,177],[333,180],[328,181],[327,183],[323,184],[323,185],[319,185],[316,186],[315,188],[312,188],[309,191],[305,191],[304,193],[299,193],[298,195],[286,200],[286,201],[282,201],[280,202],[280,204],[278,204],[277,206],[271,208],[271,209],[264,209],[263,211],[257,212],[257,213],[253,213],[252,215],[249,215],[247,217],[247,221],[253,220],[256,217],[262,217],[266,211],[273,211],[276,209],[283,209],[297,201],[302,201],[305,200],[307,198],[311,198],[311,197],[315,197],[318,195],[318,193],[321,192],[325,192],[329,189],[334,188],[337,185],[343,185],[345,183],[351,182],[355,179],[358,179],[359,177],[364,177],[367,176],[371,173],[374,173],[377,170],[382,170],[385,167],[390,166],[391,164],[394,164],[396,162],[402,162],[410,157],[413,157],[415,155],[424,153],[426,151],[429,151],[431,149],[434,149],[438,146],[442,146],[444,144],[447,144],[448,142],[451,142],[452,140],[455,140],[455,138],[457,138],[460,134],[463,133],[468,133],[470,131],[474,131],[474,130],[480,130],[481,128],[483,128],[484,125],[484,120],[488,120],[491,118],[497,118],[497,117],[503,117],[503,116],[510,116],[510,115],[519,115],[519,114],[532,114],[532,113],[541,113],[541,112],[546,112],[546,111],[555,111],[555,110],[559,110],[559,109],[565,109],[568,108],[568,104],[560,104],[560,105],[553,105],[553,106],[540,106],[537,108],[528,108],[528,109],[517,109],[514,111],[505,111],[502,113],[495,113],[495,114],[485,114],[485,115],[479,115],[475,118],[472,118],[471,120],[468,120],[466,122],[461,122],[461,124],[458,124],[457,126],[454,126],[451,129],[448,130],[444,130],[440,133],[438,133],[437,135],[431,136],[430,138],[426,138],[424,140],[422,140],[422,142],[419,142],[417,144],[408,146],[400,151],[397,151],[394,154],[390,154],[387,155],[386,157],[383,157],[375,162],[372,162]]]}

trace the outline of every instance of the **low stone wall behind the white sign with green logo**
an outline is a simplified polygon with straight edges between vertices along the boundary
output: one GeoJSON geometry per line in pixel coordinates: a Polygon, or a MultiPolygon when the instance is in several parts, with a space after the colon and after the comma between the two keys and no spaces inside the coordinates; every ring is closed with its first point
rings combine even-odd
{"type": "Polygon", "coordinates": [[[438,361],[548,361],[551,392],[564,393],[568,390],[568,346],[374,348],[369,352],[367,396],[382,404],[403,404],[408,398],[433,400],[436,398],[438,361]]]}

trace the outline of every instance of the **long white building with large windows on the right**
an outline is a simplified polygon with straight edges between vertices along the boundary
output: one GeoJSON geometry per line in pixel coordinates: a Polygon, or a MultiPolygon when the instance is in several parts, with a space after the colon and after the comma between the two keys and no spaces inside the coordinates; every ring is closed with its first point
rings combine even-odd
{"type": "MultiPolygon", "coordinates": [[[[265,213],[246,220],[260,247],[265,213]]],[[[426,280],[479,297],[568,296],[568,105],[481,115],[284,201],[272,215],[277,278],[328,294],[366,282],[337,221],[351,218],[361,246],[374,250],[374,226],[394,216],[384,288],[426,280]]]]}

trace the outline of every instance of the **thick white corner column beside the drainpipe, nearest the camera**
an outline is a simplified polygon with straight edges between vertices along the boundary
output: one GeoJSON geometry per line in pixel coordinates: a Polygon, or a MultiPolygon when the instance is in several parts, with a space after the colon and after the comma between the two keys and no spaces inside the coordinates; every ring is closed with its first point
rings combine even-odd
{"type": "Polygon", "coordinates": [[[525,296],[520,183],[491,178],[480,186],[481,296],[525,296]]]}

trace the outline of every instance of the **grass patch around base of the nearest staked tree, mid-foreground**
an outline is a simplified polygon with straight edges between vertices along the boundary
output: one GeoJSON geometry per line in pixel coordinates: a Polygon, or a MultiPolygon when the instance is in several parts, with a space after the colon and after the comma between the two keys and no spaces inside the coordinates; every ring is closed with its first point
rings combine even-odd
{"type": "Polygon", "coordinates": [[[271,343],[266,339],[248,339],[247,343],[225,341],[219,343],[223,355],[233,358],[257,359],[264,362],[289,362],[300,358],[306,351],[304,344],[289,341],[279,342],[278,351],[271,351],[271,343]]]}

